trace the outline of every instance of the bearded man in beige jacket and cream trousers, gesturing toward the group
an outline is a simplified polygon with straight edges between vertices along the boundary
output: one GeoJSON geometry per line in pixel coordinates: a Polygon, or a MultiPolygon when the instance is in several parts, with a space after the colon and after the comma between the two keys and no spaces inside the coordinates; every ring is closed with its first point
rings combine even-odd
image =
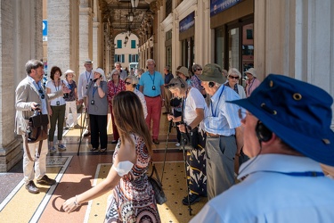
{"type": "Polygon", "coordinates": [[[39,142],[29,144],[27,142],[27,124],[29,117],[39,108],[43,114],[47,114],[48,101],[57,98],[64,93],[69,93],[67,87],[63,87],[53,94],[46,94],[41,84],[43,79],[43,62],[30,60],[26,63],[27,77],[20,81],[16,88],[15,108],[16,108],[16,127],[15,132],[23,138],[23,176],[26,189],[31,194],[38,194],[39,189],[34,183],[35,176],[37,184],[52,186],[56,183],[54,179],[46,176],[46,154],[48,152],[47,140],[40,145],[39,142]],[[37,152],[38,151],[38,152],[37,152]],[[38,157],[33,159],[32,157],[38,157]]]}

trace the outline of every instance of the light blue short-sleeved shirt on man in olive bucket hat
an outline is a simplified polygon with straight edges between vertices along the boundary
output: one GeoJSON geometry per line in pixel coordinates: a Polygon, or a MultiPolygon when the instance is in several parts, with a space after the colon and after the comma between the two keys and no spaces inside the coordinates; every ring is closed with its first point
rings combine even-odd
{"type": "Polygon", "coordinates": [[[204,130],[221,136],[235,135],[235,128],[241,125],[238,115],[240,106],[226,103],[226,101],[237,99],[240,99],[240,96],[231,87],[224,85],[219,87],[215,95],[211,97],[211,103],[205,109],[204,130]]]}

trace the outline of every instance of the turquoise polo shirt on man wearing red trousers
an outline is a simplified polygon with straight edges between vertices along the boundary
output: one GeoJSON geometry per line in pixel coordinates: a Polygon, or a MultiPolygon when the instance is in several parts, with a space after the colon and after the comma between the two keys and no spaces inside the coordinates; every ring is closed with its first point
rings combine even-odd
{"type": "Polygon", "coordinates": [[[160,87],[164,85],[164,79],[158,71],[154,71],[153,75],[146,71],[139,80],[139,85],[143,86],[143,95],[156,97],[161,94],[160,87]]]}

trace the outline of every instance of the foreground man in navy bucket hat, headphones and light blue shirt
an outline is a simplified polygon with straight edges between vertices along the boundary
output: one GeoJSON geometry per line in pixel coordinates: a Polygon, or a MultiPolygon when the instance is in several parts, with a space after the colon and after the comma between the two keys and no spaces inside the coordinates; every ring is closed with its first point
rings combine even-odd
{"type": "Polygon", "coordinates": [[[244,128],[240,184],[208,202],[191,222],[334,222],[332,97],[270,74],[246,99],[231,101],[244,128]]]}

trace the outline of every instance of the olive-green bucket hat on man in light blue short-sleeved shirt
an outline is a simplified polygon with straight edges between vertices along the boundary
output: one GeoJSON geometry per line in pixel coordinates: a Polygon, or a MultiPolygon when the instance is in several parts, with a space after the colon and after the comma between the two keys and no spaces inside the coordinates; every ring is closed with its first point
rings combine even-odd
{"type": "Polygon", "coordinates": [[[222,68],[216,63],[208,63],[205,65],[199,78],[202,81],[214,81],[218,84],[224,84],[226,82],[226,78],[224,78],[222,74],[222,68]]]}

